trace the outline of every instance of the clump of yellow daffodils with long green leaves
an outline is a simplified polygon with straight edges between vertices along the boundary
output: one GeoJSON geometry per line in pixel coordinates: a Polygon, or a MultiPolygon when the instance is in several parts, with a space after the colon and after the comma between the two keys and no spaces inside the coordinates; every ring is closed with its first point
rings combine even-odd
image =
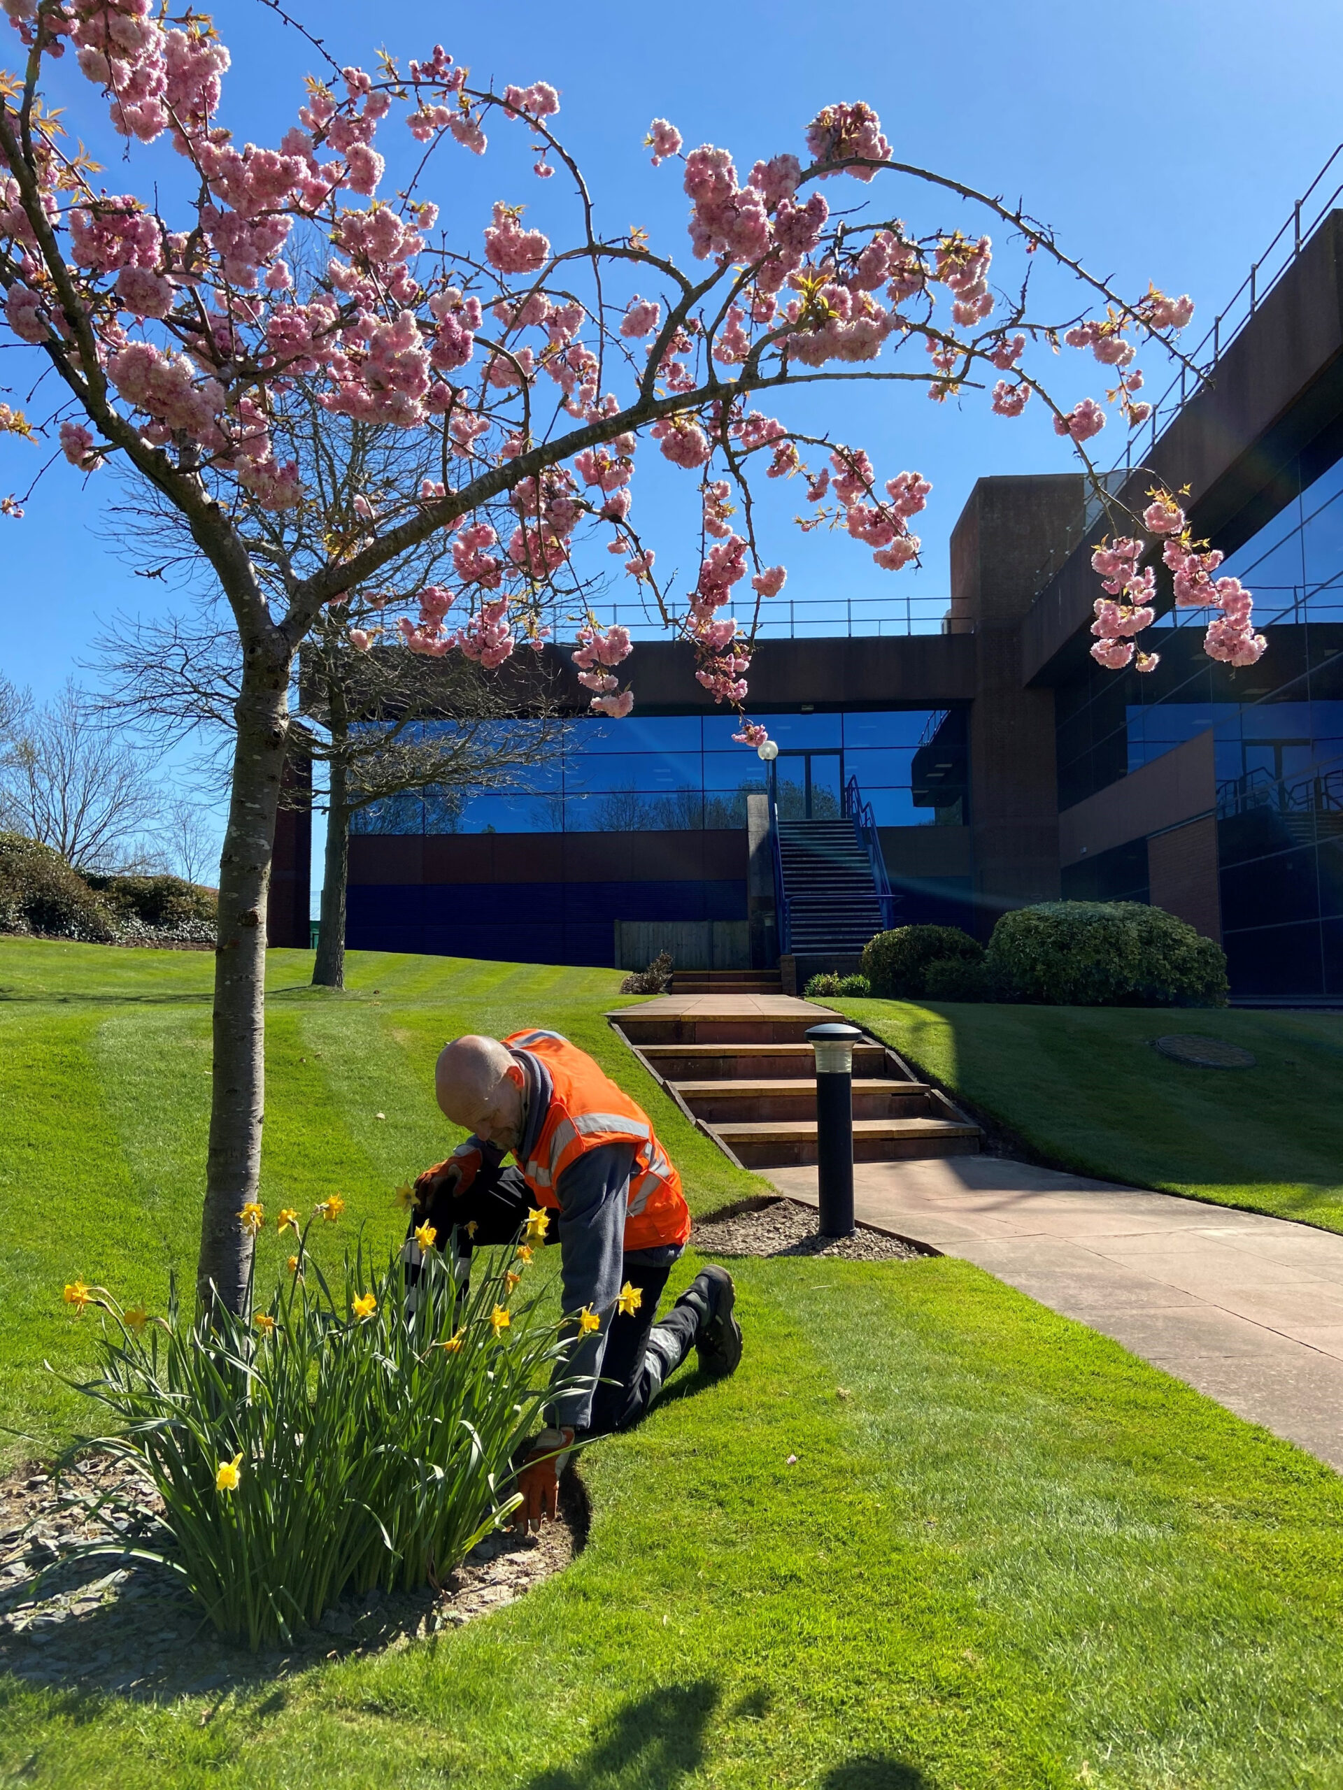
{"type": "MultiPolygon", "coordinates": [[[[342,1206],[333,1194],[308,1224],[342,1206]]],[[[238,1219],[252,1235],[267,1223],[256,1201],[238,1219]]],[[[81,1391],[116,1418],[72,1453],[95,1445],[143,1470],[172,1536],[159,1557],[251,1647],[321,1622],[347,1590],[446,1579],[516,1509],[514,1455],[571,1346],[571,1325],[525,1292],[530,1244],[476,1251],[467,1280],[455,1233],[421,1224],[378,1271],[360,1242],[337,1285],[297,1212],[278,1228],[295,1253],[240,1314],[192,1317],[175,1291],[150,1314],[82,1280],[64,1289],[77,1314],[102,1314],[81,1391]]]]}

